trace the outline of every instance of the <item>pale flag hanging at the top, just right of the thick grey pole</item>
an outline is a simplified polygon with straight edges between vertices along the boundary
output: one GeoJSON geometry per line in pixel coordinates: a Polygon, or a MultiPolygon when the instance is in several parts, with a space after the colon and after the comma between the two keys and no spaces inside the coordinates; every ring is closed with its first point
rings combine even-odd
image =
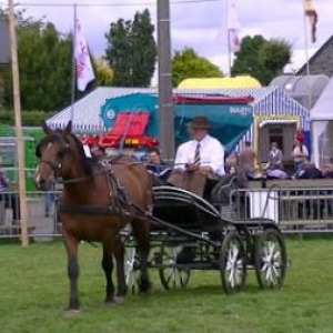
{"type": "Polygon", "coordinates": [[[240,41],[240,20],[239,13],[235,4],[235,0],[228,0],[228,38],[229,38],[229,48],[233,52],[240,51],[241,41],[240,41]]]}

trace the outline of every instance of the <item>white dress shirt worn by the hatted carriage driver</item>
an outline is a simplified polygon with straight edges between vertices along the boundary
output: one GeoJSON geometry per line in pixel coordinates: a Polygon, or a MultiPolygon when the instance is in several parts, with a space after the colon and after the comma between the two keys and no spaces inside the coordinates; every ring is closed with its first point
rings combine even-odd
{"type": "Polygon", "coordinates": [[[174,168],[186,169],[186,164],[194,162],[195,149],[200,143],[200,165],[210,167],[218,175],[224,172],[224,149],[220,141],[206,134],[200,142],[196,140],[181,144],[175,153],[174,168]]]}

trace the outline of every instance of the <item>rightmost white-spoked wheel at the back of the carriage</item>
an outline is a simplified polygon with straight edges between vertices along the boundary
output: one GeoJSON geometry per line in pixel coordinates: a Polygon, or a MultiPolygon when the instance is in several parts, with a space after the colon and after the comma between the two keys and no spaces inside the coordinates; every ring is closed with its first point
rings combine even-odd
{"type": "Polygon", "coordinates": [[[286,250],[284,240],[278,230],[266,229],[259,236],[254,268],[261,289],[282,286],[286,270],[286,250]]]}

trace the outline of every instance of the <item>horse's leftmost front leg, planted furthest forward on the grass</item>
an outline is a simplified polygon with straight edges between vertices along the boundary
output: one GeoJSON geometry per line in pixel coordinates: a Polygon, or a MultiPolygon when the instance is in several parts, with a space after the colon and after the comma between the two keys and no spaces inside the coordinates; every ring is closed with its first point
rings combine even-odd
{"type": "Polygon", "coordinates": [[[68,276],[70,280],[70,297],[68,312],[79,310],[80,302],[78,296],[78,279],[79,279],[79,264],[78,264],[78,240],[63,233],[64,245],[68,253],[68,276]]]}

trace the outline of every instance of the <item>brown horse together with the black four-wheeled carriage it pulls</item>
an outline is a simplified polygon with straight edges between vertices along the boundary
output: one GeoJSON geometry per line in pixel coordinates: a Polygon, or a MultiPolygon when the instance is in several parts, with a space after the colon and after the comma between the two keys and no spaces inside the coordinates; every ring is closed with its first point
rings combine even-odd
{"type": "Polygon", "coordinates": [[[137,273],[139,290],[148,292],[150,268],[159,270],[165,289],[186,286],[191,270],[216,270],[225,292],[236,292],[243,289],[249,268],[255,269],[261,287],[283,284],[286,250],[279,226],[263,215],[232,216],[233,204],[240,206],[244,200],[236,189],[236,195],[226,196],[232,202],[222,200],[224,190],[235,184],[233,180],[215,191],[216,200],[212,202],[174,186],[153,188],[145,168],[130,157],[87,157],[82,142],[71,133],[71,123],[61,132],[47,124],[43,129],[47,135],[37,148],[40,163],[36,184],[48,190],[54,176],[62,178],[59,211],[68,252],[69,311],[79,309],[81,240],[102,243],[107,304],[123,300],[125,282],[134,282],[131,278],[137,273]],[[130,235],[123,233],[129,224],[130,235]],[[135,249],[127,259],[127,272],[124,243],[135,249]],[[112,282],[113,258],[117,290],[112,282]]]}

